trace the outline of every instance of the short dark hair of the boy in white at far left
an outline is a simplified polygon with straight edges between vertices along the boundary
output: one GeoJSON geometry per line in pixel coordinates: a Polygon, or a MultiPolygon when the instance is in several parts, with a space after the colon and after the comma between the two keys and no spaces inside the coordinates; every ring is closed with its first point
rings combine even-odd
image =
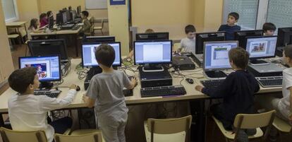
{"type": "Polygon", "coordinates": [[[13,71],[8,78],[9,86],[22,94],[28,88],[28,85],[33,84],[37,70],[34,67],[26,67],[13,71]]]}

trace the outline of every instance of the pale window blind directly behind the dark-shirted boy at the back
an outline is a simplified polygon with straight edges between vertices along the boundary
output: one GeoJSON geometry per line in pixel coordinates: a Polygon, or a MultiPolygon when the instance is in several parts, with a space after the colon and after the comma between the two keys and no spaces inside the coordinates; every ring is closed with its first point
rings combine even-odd
{"type": "Polygon", "coordinates": [[[255,29],[259,0],[224,0],[224,23],[231,12],[239,14],[238,25],[244,29],[255,29]]]}

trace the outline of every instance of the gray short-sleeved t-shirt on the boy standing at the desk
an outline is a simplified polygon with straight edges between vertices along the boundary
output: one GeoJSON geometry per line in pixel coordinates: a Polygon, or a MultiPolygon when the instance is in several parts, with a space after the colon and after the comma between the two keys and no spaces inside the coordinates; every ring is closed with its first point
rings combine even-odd
{"type": "Polygon", "coordinates": [[[128,113],[123,87],[130,88],[130,80],[123,71],[99,73],[92,77],[86,96],[95,99],[95,112],[116,117],[128,113]]]}

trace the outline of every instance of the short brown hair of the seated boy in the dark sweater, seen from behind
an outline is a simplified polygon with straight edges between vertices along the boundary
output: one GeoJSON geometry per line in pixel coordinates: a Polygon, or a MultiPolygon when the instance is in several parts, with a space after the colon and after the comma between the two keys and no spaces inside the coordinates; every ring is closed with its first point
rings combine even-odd
{"type": "Polygon", "coordinates": [[[241,47],[236,47],[229,50],[229,60],[233,61],[238,68],[246,69],[248,67],[248,59],[250,54],[241,47]]]}

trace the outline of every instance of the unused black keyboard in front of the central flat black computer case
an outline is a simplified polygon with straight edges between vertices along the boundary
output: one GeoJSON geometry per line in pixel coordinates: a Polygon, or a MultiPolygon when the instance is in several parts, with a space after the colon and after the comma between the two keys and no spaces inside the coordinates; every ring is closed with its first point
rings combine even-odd
{"type": "Polygon", "coordinates": [[[186,91],[183,85],[169,85],[153,88],[141,88],[141,97],[154,97],[165,95],[185,95],[186,91]]]}

